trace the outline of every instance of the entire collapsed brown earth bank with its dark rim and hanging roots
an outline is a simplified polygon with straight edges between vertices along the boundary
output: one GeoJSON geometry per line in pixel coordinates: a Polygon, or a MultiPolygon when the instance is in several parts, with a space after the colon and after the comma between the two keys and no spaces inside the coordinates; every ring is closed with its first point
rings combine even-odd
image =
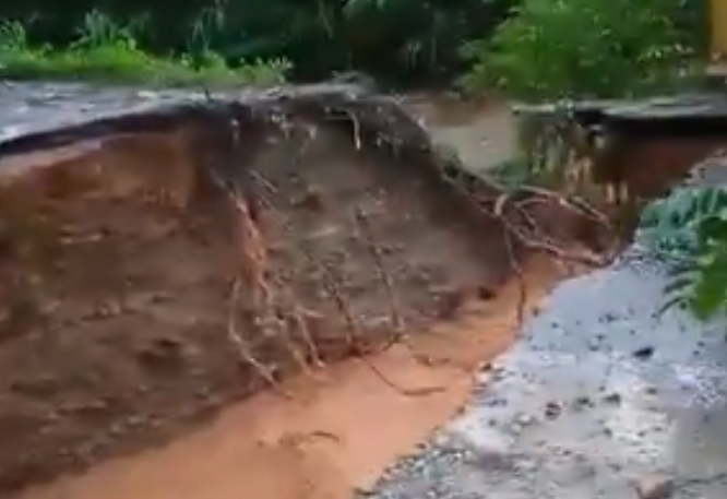
{"type": "Polygon", "coordinates": [[[0,490],[454,318],[525,254],[509,224],[600,236],[551,199],[505,226],[497,188],[351,88],[150,109],[0,154],[0,490]]]}

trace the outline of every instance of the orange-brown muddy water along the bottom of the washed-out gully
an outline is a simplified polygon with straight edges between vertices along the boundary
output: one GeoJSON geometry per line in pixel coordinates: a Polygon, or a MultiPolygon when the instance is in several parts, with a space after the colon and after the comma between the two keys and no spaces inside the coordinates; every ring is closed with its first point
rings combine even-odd
{"type": "MultiPolygon", "coordinates": [[[[529,310],[558,280],[545,262],[527,268],[529,310]]],[[[464,406],[474,373],[514,340],[520,283],[455,323],[413,336],[367,361],[346,360],[238,403],[174,443],[97,465],[82,476],[31,488],[13,499],[345,499],[371,486],[464,406]]]]}

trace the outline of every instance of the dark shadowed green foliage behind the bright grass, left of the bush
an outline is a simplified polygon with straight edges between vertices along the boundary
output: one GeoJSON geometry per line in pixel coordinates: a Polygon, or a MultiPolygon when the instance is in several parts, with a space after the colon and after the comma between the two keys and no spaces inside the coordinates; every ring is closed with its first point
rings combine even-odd
{"type": "Polygon", "coordinates": [[[296,80],[359,70],[379,78],[450,80],[460,46],[487,36],[516,0],[8,0],[0,19],[23,24],[34,47],[68,50],[92,11],[132,27],[158,58],[215,54],[240,61],[286,60],[296,80]]]}

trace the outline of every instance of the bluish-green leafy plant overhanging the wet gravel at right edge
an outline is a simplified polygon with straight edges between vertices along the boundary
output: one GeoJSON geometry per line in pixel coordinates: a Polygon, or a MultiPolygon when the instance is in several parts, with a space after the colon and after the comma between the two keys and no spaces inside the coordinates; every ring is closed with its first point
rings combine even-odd
{"type": "Polygon", "coordinates": [[[664,308],[700,319],[727,311],[727,191],[684,187],[642,213],[640,239],[675,263],[664,308]]]}

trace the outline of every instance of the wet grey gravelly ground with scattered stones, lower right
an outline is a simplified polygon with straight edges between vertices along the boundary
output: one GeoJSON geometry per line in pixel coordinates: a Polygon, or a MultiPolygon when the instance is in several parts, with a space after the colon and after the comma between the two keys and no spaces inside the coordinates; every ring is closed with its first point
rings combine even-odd
{"type": "Polygon", "coordinates": [[[561,284],[377,499],[727,497],[727,325],[664,304],[637,248],[561,284]]]}

